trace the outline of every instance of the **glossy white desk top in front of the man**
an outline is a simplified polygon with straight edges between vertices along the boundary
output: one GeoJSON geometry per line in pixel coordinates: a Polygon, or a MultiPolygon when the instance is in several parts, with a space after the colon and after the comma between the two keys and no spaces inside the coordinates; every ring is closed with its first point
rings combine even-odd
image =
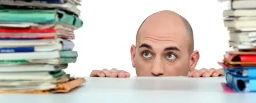
{"type": "Polygon", "coordinates": [[[0,94],[3,103],[255,103],[256,93],[225,94],[224,78],[86,78],[69,94],[0,94]]]}

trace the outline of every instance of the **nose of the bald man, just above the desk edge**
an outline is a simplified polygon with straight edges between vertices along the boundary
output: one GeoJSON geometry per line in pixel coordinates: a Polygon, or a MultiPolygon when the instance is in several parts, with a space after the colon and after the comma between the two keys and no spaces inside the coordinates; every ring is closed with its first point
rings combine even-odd
{"type": "Polygon", "coordinates": [[[162,65],[162,61],[160,59],[155,60],[152,65],[151,73],[154,76],[161,76],[164,73],[164,68],[162,65]]]}

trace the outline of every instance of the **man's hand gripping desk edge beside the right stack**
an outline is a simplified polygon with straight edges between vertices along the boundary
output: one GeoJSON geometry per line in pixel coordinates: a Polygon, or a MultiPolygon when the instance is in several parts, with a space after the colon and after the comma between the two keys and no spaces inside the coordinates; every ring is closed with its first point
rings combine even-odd
{"type": "Polygon", "coordinates": [[[224,76],[224,70],[223,69],[200,69],[200,70],[194,70],[187,74],[188,77],[193,78],[199,78],[199,77],[217,77],[217,76],[224,76]]]}

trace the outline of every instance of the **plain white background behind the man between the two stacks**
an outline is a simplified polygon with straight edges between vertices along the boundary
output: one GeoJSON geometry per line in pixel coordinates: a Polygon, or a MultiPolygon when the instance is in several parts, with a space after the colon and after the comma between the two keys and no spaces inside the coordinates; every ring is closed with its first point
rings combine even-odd
{"type": "Polygon", "coordinates": [[[66,70],[76,76],[89,76],[93,69],[103,68],[136,76],[130,55],[136,32],[147,16],[162,10],[173,10],[190,22],[200,53],[197,69],[220,68],[217,61],[229,49],[222,20],[227,3],[217,0],[83,0],[79,9],[84,22],[75,32],[79,57],[66,70]]]}

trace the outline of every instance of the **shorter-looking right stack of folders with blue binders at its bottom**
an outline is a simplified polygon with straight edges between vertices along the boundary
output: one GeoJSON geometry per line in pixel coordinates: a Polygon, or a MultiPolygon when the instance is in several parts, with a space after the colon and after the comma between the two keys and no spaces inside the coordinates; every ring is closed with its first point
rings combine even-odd
{"type": "Polygon", "coordinates": [[[223,12],[229,45],[223,62],[227,85],[237,92],[256,92],[256,1],[228,1],[223,12]]]}

